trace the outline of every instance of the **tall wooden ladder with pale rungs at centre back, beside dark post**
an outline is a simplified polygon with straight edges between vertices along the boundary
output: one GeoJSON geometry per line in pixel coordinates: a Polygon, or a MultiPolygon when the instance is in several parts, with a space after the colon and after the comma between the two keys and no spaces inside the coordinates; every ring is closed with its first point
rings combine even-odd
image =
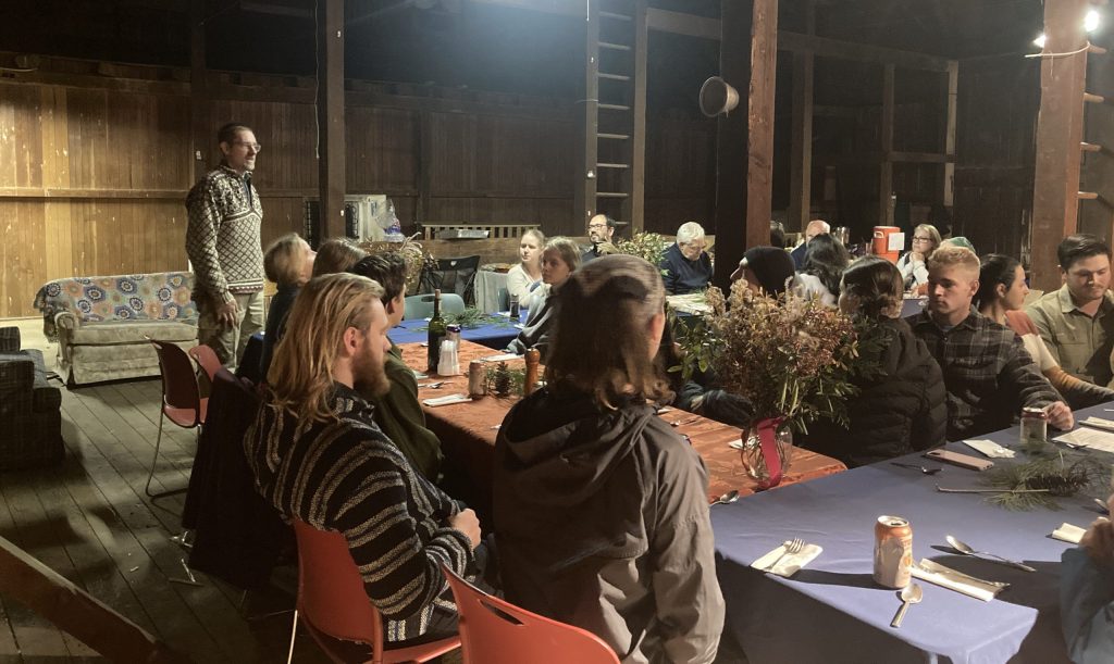
{"type": "Polygon", "coordinates": [[[576,206],[643,227],[646,0],[588,0],[576,206]]]}

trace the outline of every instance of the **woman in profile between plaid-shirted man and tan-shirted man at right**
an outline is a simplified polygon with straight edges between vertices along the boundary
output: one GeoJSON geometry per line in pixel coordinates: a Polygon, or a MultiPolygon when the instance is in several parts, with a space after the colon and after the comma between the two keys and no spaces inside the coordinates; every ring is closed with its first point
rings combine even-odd
{"type": "Polygon", "coordinates": [[[1072,408],[1084,408],[1114,400],[1114,390],[1072,376],[1048,351],[1037,331],[1037,326],[1024,309],[1029,287],[1025,284],[1025,269],[1022,264],[1016,258],[1001,254],[988,254],[983,257],[981,264],[978,293],[974,299],[979,314],[998,325],[1005,325],[1022,338],[1037,368],[1072,408]]]}

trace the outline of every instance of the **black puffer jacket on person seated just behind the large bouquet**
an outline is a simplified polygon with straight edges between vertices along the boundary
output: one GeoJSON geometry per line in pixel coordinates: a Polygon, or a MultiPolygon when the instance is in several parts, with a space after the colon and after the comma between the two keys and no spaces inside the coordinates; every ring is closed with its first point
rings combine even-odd
{"type": "Polygon", "coordinates": [[[809,425],[799,444],[836,457],[848,467],[942,445],[948,408],[939,365],[903,320],[879,324],[888,344],[881,353],[881,374],[857,380],[862,390],[848,402],[850,427],[831,420],[809,425]]]}

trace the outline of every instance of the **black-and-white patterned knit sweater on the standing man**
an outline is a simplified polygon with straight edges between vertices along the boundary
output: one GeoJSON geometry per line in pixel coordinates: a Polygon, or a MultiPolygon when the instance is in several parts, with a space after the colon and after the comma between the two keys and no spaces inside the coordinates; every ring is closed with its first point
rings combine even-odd
{"type": "Polygon", "coordinates": [[[263,207],[250,182],[227,166],[211,170],[186,197],[186,254],[194,266],[194,299],[224,304],[233,294],[263,290],[263,207]],[[247,190],[251,190],[248,197],[247,190]]]}

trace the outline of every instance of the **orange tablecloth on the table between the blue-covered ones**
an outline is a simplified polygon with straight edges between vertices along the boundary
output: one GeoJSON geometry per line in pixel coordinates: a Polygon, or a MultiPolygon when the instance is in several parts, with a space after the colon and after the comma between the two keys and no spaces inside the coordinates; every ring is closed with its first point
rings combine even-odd
{"type": "MultiPolygon", "coordinates": [[[[423,346],[402,344],[400,348],[402,349],[402,359],[408,366],[417,370],[426,368],[426,348],[423,346]]],[[[418,398],[427,399],[458,393],[468,394],[468,363],[494,355],[498,355],[498,351],[479,344],[461,341],[459,357],[460,368],[465,375],[443,378],[448,383],[439,389],[419,387],[418,398]]],[[[520,366],[521,363],[524,360],[519,358],[509,360],[508,365],[514,367],[520,366]]],[[[418,385],[441,379],[431,376],[428,380],[419,379],[418,385]]],[[[502,418],[515,400],[515,398],[500,399],[486,396],[481,399],[451,406],[422,406],[426,412],[427,426],[441,439],[446,463],[462,468],[475,487],[479,489],[479,496],[473,496],[473,499],[478,502],[478,508],[490,506],[495,439],[499,433],[499,425],[502,424],[502,418]]],[[[678,423],[677,433],[688,436],[693,448],[704,459],[709,470],[710,501],[732,489],[739,489],[740,495],[743,496],[758,490],[758,483],[750,478],[743,468],[739,450],[730,446],[731,442],[740,438],[741,432],[739,429],[675,408],[664,410],[661,417],[670,423],[678,423]]],[[[793,460],[784,479],[782,479],[782,484],[807,482],[846,469],[847,466],[837,459],[808,449],[794,448],[793,460]]]]}

